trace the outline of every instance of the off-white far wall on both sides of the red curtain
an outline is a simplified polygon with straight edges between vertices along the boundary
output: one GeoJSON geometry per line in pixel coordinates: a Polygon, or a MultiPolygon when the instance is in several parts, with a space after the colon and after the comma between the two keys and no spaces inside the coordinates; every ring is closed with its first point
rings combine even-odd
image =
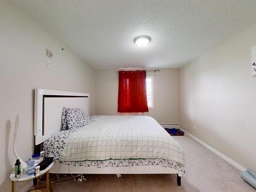
{"type": "MultiPolygon", "coordinates": [[[[118,98],[118,70],[96,70],[96,112],[98,115],[116,115],[118,98]]],[[[179,123],[180,71],[161,69],[154,76],[154,108],[146,115],[159,123],[179,123]]],[[[147,72],[154,75],[154,72],[147,72]]]]}

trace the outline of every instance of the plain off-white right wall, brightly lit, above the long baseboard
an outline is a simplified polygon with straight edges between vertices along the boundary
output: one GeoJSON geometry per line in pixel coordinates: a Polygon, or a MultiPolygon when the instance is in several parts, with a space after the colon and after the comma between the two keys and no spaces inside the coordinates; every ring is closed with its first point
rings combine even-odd
{"type": "Polygon", "coordinates": [[[181,126],[256,170],[256,24],[181,68],[181,126]],[[194,128],[194,124],[197,129],[194,128]]]}

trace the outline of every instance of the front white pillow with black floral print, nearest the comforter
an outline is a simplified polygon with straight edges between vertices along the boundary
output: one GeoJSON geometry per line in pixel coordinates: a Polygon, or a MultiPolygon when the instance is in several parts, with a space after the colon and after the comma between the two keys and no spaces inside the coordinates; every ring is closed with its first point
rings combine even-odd
{"type": "Polygon", "coordinates": [[[90,117],[81,109],[66,109],[67,125],[69,129],[83,127],[90,123],[90,117]]]}

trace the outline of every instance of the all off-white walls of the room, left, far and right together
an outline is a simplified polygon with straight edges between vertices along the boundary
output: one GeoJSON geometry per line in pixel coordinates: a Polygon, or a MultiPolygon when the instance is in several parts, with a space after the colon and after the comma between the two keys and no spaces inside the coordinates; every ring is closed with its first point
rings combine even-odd
{"type": "MultiPolygon", "coordinates": [[[[13,131],[15,116],[22,119],[17,151],[26,160],[34,144],[33,89],[89,92],[91,115],[116,115],[118,74],[94,70],[68,48],[62,52],[64,45],[5,1],[0,29],[0,191],[9,191],[8,120],[13,131]],[[46,67],[45,48],[53,51],[52,68],[46,67]]],[[[148,113],[159,123],[181,121],[185,130],[253,169],[256,77],[250,74],[250,48],[256,45],[255,31],[253,25],[181,70],[156,72],[154,109],[148,113]]]]}

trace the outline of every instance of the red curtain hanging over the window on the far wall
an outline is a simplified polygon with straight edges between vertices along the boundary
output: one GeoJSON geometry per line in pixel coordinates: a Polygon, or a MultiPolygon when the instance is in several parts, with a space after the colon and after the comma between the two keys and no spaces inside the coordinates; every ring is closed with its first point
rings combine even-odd
{"type": "Polygon", "coordinates": [[[118,112],[148,112],[146,71],[119,71],[118,112]]]}

